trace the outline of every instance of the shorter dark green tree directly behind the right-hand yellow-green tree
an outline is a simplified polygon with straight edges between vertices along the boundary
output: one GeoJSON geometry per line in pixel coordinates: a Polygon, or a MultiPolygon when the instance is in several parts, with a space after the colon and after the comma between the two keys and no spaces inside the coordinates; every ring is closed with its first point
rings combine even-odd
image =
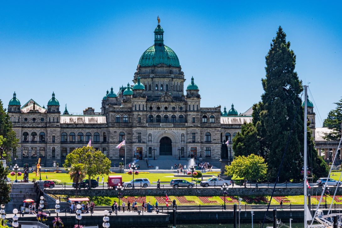
{"type": "Polygon", "coordinates": [[[248,156],[255,151],[259,152],[260,143],[258,131],[253,123],[244,123],[241,133],[238,132],[233,138],[233,150],[235,156],[248,156]]]}

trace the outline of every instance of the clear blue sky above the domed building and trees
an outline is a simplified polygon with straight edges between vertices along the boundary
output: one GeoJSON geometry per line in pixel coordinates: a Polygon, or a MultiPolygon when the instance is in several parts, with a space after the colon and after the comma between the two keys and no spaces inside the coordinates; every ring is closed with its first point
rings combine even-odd
{"type": "Polygon", "coordinates": [[[13,91],[22,105],[32,98],[41,106],[54,91],[62,110],[67,103],[69,112],[100,111],[107,89],[132,83],[158,15],[186,84],[194,76],[199,86],[202,107],[234,103],[240,113],[260,100],[265,55],[279,25],[323,119],[342,96],[341,2],[126,2],[1,1],[5,107],[13,91]]]}

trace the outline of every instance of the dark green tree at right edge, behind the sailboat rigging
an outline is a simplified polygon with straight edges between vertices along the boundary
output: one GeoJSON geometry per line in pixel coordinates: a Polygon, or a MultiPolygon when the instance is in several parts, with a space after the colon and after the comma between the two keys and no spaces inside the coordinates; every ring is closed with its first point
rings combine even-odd
{"type": "Polygon", "coordinates": [[[341,138],[342,99],[334,104],[336,104],[336,109],[331,110],[328,114],[328,118],[323,122],[323,127],[331,129],[332,132],[326,134],[324,139],[338,141],[341,138]]]}

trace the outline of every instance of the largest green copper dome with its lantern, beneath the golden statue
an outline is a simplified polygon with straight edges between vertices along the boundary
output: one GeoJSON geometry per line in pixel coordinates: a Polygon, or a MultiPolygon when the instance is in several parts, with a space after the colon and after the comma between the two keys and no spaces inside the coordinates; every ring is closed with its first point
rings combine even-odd
{"type": "Polygon", "coordinates": [[[139,65],[141,67],[157,66],[165,64],[172,67],[180,67],[179,59],[174,51],[164,45],[164,30],[160,25],[154,30],[154,45],[150,46],[140,57],[139,65]]]}

